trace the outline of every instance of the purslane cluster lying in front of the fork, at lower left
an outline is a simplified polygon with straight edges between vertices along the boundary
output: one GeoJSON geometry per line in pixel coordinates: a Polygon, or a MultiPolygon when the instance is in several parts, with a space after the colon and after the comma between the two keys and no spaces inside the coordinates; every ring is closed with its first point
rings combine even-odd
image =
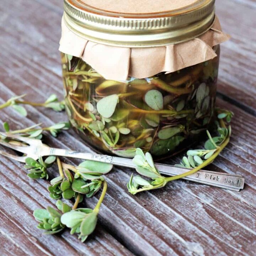
{"type": "MultiPolygon", "coordinates": [[[[58,157],[50,156],[45,161],[41,157],[38,161],[27,158],[25,167],[27,169],[31,168],[32,178],[48,178],[48,162],[53,164],[54,161],[58,165],[59,176],[50,181],[51,185],[48,190],[50,197],[58,199],[56,205],[62,213],[52,207],[35,210],[34,217],[39,222],[37,227],[45,230],[44,234],[55,234],[68,227],[71,229],[71,234],[78,234],[79,239],[84,242],[96,227],[97,215],[106,194],[107,182],[101,175],[111,171],[113,165],[88,160],[82,162],[79,166],[73,166],[61,162],[58,157]],[[102,194],[94,209],[77,208],[84,195],[87,198],[94,196],[102,185],[102,194]],[[60,201],[60,198],[75,198],[75,203],[71,208],[60,201]]],[[[28,176],[31,176],[31,174],[28,174],[28,176]]]]}

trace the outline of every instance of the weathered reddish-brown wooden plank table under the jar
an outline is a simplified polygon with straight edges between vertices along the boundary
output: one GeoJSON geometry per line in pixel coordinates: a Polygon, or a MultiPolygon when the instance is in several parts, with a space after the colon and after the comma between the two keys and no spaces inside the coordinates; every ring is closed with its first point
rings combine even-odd
{"type": "MultiPolygon", "coordinates": [[[[0,103],[23,93],[38,102],[52,93],[62,97],[62,12],[60,0],[1,0],[0,103]]],[[[217,14],[232,36],[222,46],[217,104],[235,117],[229,145],[207,168],[244,176],[244,190],[178,180],[132,196],[123,182],[131,170],[114,168],[106,177],[109,189],[97,229],[82,244],[68,230],[44,236],[36,229],[33,210],[54,204],[49,183],[28,180],[23,164],[0,157],[1,255],[256,255],[256,3],[218,0],[217,14]]],[[[0,123],[8,121],[17,129],[66,120],[65,113],[27,110],[28,116],[21,118],[6,108],[0,123]]],[[[47,143],[90,151],[72,131],[47,143]]],[[[86,200],[86,205],[93,207],[96,201],[86,200]]]]}

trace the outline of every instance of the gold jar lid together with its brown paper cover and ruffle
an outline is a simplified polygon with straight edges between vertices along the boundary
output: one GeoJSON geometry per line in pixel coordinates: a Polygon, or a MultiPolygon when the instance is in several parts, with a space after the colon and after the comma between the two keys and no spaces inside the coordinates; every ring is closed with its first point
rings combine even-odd
{"type": "Polygon", "coordinates": [[[216,56],[213,47],[229,39],[214,0],[64,0],[64,10],[59,50],[110,80],[148,78],[207,61],[216,56]]]}

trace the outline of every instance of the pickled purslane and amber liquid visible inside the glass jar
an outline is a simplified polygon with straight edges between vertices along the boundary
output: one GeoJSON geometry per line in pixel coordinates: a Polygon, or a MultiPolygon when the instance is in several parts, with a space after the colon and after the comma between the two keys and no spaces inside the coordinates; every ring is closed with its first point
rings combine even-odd
{"type": "MultiPolygon", "coordinates": [[[[106,80],[62,53],[66,112],[96,151],[133,157],[136,148],[164,158],[186,148],[214,115],[217,57],[146,79],[106,80]]],[[[118,67],[117,67],[118,68],[118,67]]]]}

